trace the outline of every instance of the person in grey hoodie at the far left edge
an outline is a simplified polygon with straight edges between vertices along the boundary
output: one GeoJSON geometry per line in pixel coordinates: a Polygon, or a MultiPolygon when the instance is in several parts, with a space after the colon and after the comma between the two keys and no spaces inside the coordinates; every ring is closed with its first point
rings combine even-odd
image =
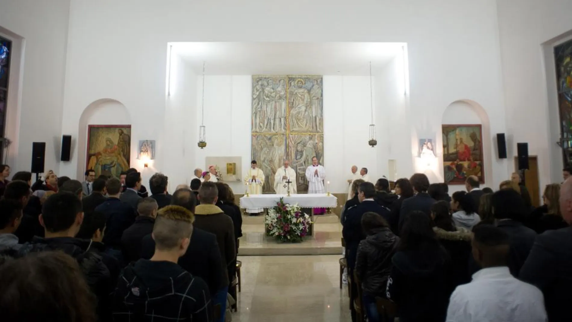
{"type": "Polygon", "coordinates": [[[0,200],[0,251],[22,247],[14,234],[22,220],[22,204],[15,200],[2,198],[0,200]]]}

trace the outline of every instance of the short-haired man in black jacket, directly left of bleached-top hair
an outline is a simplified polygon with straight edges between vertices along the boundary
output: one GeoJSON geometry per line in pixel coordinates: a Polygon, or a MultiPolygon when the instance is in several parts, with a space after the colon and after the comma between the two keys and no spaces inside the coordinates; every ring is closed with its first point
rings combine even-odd
{"type": "Polygon", "coordinates": [[[137,205],[139,216],[135,223],[125,229],[121,237],[121,251],[125,261],[131,262],[141,258],[141,241],[143,237],[153,232],[153,225],[157,217],[157,201],[153,198],[142,198],[137,205]]]}

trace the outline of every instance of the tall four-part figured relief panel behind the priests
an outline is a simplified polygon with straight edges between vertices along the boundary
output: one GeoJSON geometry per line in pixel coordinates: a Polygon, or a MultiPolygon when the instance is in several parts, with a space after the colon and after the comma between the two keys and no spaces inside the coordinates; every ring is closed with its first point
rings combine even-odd
{"type": "Polygon", "coordinates": [[[274,193],[272,181],[284,158],[296,170],[297,191],[308,191],[305,167],[313,156],[323,164],[323,133],[321,76],[252,76],[252,158],[267,178],[264,193],[274,193]]]}

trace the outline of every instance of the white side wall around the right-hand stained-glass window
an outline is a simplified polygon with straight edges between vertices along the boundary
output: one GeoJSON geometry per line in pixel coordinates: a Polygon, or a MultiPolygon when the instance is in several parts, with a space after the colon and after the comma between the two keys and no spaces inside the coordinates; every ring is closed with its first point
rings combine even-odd
{"type": "Polygon", "coordinates": [[[496,2],[507,132],[513,136],[509,158],[515,156],[517,142],[528,142],[529,154],[538,156],[542,191],[544,185],[562,181],[562,153],[555,144],[560,133],[551,48],[572,30],[572,2],[496,2]]]}

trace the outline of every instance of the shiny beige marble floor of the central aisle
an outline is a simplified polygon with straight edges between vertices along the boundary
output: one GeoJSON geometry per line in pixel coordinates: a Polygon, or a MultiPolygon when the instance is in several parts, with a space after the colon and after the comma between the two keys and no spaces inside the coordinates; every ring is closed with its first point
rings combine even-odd
{"type": "Polygon", "coordinates": [[[239,322],[347,322],[347,287],[339,288],[340,255],[239,256],[239,322]]]}

